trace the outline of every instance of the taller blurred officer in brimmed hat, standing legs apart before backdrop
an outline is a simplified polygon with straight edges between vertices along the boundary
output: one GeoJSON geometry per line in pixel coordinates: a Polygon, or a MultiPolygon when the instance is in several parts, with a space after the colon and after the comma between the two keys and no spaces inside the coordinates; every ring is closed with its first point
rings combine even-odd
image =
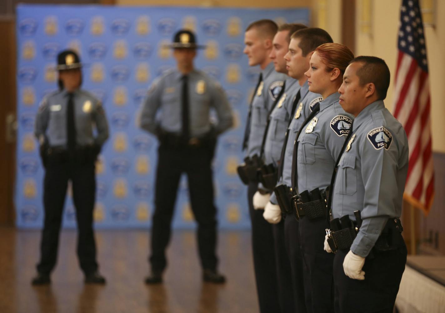
{"type": "Polygon", "coordinates": [[[162,282],[167,266],[171,219],[182,173],[187,174],[191,209],[198,222],[198,249],[203,279],[224,283],[216,256],[217,221],[211,163],[216,138],[233,124],[233,114],[223,88],[194,69],[194,33],[180,30],[171,45],[177,69],[153,82],[142,104],[140,127],[158,137],[155,210],[151,236],[151,273],[146,284],[162,282]],[[210,122],[210,110],[218,122],[210,122]],[[160,112],[158,112],[160,111],[160,112]],[[156,118],[160,113],[159,119],[156,118]]]}

